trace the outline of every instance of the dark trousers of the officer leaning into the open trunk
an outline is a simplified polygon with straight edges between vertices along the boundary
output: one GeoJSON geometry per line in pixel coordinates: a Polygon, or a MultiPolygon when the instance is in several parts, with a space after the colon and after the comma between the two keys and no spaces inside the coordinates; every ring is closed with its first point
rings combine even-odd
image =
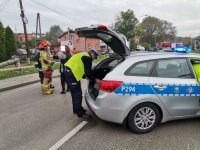
{"type": "Polygon", "coordinates": [[[81,82],[77,81],[71,69],[66,67],[65,79],[72,96],[73,113],[81,116],[85,110],[82,107],[82,89],[81,82]]]}

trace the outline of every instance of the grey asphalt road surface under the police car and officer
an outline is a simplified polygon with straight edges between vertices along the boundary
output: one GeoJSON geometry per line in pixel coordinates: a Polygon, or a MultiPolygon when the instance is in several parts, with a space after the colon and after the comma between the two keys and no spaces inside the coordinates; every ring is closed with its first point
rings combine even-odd
{"type": "MultiPolygon", "coordinates": [[[[60,80],[53,82],[53,95],[43,95],[39,83],[0,93],[0,150],[49,149],[83,121],[72,113],[70,94],[59,93],[60,80]]],[[[93,117],[59,150],[200,150],[199,141],[200,118],[138,135],[93,117]]]]}

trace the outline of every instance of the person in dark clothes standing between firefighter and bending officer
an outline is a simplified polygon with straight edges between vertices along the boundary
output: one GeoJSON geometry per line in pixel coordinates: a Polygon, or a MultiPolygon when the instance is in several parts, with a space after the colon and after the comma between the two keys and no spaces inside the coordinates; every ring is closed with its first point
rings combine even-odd
{"type": "Polygon", "coordinates": [[[69,92],[69,88],[67,86],[67,90],[65,91],[65,84],[66,84],[66,79],[65,79],[65,66],[64,64],[71,58],[70,54],[70,47],[68,45],[65,46],[65,52],[61,53],[58,55],[60,59],[60,80],[61,80],[61,86],[62,86],[62,91],[60,94],[65,94],[66,91],[69,92]]]}

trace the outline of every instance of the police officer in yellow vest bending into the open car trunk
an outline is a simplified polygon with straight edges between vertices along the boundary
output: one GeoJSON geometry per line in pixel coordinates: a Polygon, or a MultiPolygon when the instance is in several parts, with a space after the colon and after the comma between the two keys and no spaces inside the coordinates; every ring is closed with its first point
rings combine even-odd
{"type": "Polygon", "coordinates": [[[92,60],[96,59],[98,53],[91,49],[87,53],[78,53],[72,56],[68,62],[65,63],[65,75],[67,84],[72,96],[73,113],[78,117],[90,118],[86,110],[82,107],[82,89],[80,80],[86,76],[90,80],[96,80],[92,71],[92,60]]]}

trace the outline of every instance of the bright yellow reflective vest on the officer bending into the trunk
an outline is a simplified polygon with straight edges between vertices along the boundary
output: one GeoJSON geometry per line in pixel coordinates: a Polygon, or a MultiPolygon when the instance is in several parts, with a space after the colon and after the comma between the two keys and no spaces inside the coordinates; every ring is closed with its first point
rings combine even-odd
{"type": "Polygon", "coordinates": [[[83,56],[90,57],[89,53],[78,53],[72,56],[66,63],[65,66],[69,67],[74,74],[77,81],[80,81],[85,74],[84,64],[81,60],[83,56]]]}

